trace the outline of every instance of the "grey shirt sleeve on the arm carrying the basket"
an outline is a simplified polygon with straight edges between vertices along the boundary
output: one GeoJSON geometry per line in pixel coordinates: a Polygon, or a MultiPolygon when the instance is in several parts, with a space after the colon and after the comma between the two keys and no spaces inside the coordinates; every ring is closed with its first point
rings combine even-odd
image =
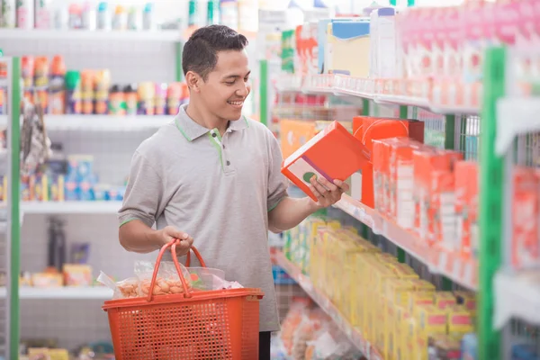
{"type": "Polygon", "coordinates": [[[164,184],[161,176],[144,155],[136,151],[131,159],[130,177],[121,210],[120,226],[131,220],[154,225],[165,209],[164,184]]]}

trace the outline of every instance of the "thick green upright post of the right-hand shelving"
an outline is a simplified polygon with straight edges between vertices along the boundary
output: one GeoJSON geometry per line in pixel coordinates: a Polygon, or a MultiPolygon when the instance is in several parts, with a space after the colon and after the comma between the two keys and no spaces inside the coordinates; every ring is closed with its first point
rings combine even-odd
{"type": "Polygon", "coordinates": [[[478,286],[478,354],[479,360],[501,360],[500,332],[493,328],[493,278],[501,265],[503,234],[504,158],[495,153],[497,101],[505,94],[506,49],[486,51],[484,93],[482,99],[482,132],[480,148],[480,218],[479,218],[479,286],[478,286]]]}

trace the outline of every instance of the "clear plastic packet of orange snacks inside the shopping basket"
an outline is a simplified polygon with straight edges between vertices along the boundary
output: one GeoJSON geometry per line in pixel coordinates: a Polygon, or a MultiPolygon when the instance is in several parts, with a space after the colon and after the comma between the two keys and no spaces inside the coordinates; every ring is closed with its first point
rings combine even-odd
{"type": "MultiPolygon", "coordinates": [[[[136,261],[135,262],[135,275],[139,279],[139,295],[147,296],[150,291],[150,283],[152,282],[152,275],[154,274],[155,263],[150,261],[136,261]]],[[[184,276],[187,288],[193,288],[193,281],[191,275],[180,264],[182,275],[184,276]]],[[[172,295],[178,293],[184,293],[184,286],[178,277],[175,264],[172,261],[162,261],[157,271],[156,284],[153,290],[154,295],[172,295]]]]}

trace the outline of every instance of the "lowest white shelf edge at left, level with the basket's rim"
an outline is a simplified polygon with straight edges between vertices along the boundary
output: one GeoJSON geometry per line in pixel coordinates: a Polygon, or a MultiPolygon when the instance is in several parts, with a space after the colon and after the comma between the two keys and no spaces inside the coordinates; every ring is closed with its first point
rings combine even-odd
{"type": "MultiPolygon", "coordinates": [[[[0,287],[0,298],[5,298],[6,289],[0,287]]],[[[112,299],[112,290],[102,286],[95,287],[58,287],[58,288],[19,288],[20,299],[112,299]]]]}

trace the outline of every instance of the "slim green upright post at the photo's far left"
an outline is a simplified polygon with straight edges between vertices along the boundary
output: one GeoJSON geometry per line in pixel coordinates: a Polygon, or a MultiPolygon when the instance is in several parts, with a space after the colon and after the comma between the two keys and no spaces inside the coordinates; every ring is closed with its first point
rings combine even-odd
{"type": "MultiPolygon", "coordinates": [[[[11,146],[11,178],[10,178],[10,211],[11,211],[11,266],[10,266],[10,292],[8,302],[10,309],[9,331],[9,358],[19,359],[19,274],[21,273],[21,217],[19,209],[19,174],[20,148],[21,148],[21,63],[19,58],[12,59],[12,103],[10,108],[10,146],[11,146]]],[[[9,240],[9,239],[8,239],[9,240]]]]}

